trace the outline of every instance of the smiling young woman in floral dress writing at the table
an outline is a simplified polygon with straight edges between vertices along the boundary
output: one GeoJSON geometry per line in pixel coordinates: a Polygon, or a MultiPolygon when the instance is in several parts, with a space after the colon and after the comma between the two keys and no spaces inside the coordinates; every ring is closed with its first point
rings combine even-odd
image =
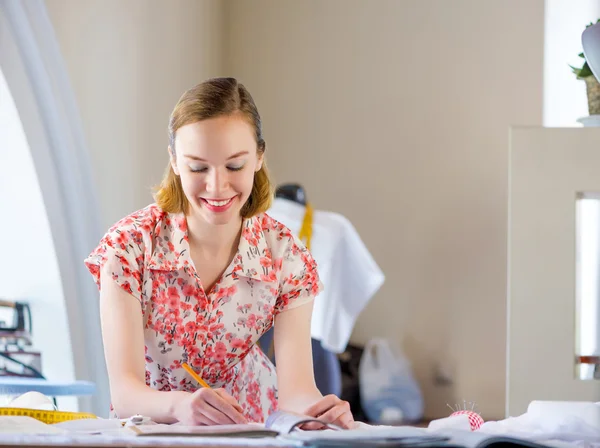
{"type": "Polygon", "coordinates": [[[85,260],[119,418],[232,424],[281,408],[353,426],[348,403],[315,386],[310,322],[322,286],[306,248],[265,214],[265,150],[243,85],[188,90],[171,115],[156,203],[117,222],[85,260]],[[256,344],[272,325],[276,371],[256,344]]]}

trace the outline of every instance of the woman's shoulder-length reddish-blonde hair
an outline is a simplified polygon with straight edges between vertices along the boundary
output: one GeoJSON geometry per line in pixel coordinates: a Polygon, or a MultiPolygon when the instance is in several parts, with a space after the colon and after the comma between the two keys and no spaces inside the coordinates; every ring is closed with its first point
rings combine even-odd
{"type": "MultiPolygon", "coordinates": [[[[262,123],[250,92],[235,78],[209,79],[185,92],[175,105],[169,120],[169,145],[175,157],[175,133],[179,128],[209,118],[240,114],[254,128],[259,155],[266,150],[262,123]]],[[[168,163],[165,175],[156,189],[156,204],[168,213],[187,213],[189,202],[183,192],[181,179],[168,163]]],[[[273,201],[273,187],[266,161],[254,173],[250,197],[241,209],[243,218],[265,212],[273,201]]]]}

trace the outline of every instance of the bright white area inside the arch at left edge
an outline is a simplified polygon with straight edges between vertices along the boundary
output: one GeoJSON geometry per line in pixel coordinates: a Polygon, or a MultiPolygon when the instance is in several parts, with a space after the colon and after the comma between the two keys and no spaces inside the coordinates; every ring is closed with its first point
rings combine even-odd
{"type": "MultiPolygon", "coordinates": [[[[28,302],[32,350],[50,380],[75,379],[69,325],[56,252],[21,117],[0,71],[0,297],[28,302]]],[[[4,313],[4,316],[12,313],[4,313]]],[[[62,398],[63,410],[75,399],[62,398]]]]}

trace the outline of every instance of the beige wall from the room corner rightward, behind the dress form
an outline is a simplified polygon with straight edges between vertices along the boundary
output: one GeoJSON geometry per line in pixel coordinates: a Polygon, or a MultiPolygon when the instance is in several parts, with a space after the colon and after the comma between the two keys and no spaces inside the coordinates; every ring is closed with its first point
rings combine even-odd
{"type": "Polygon", "coordinates": [[[508,130],[542,124],[543,0],[232,0],[225,17],[277,181],[347,216],[387,276],[353,340],[403,341],[427,416],[465,399],[503,417],[508,130]]]}

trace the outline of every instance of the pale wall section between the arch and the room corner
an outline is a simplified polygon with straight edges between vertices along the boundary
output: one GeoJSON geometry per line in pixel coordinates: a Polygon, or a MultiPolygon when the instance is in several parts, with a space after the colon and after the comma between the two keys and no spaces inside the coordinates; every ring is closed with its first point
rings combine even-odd
{"type": "MultiPolygon", "coordinates": [[[[103,228],[152,202],[169,114],[219,75],[218,0],[46,0],[91,151],[103,228]]],[[[90,248],[91,250],[91,248],[90,248]]]]}

